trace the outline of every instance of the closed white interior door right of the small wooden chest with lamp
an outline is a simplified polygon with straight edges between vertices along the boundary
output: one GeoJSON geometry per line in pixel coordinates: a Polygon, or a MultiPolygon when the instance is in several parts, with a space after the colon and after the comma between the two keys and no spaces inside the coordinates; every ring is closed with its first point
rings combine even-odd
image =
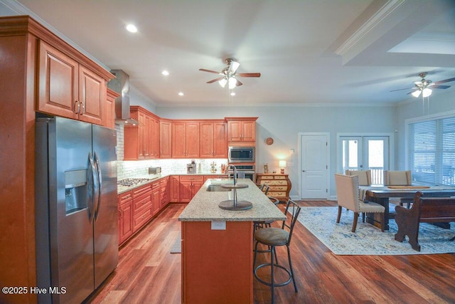
{"type": "Polygon", "coordinates": [[[328,135],[301,135],[301,199],[327,199],[328,135]]]}

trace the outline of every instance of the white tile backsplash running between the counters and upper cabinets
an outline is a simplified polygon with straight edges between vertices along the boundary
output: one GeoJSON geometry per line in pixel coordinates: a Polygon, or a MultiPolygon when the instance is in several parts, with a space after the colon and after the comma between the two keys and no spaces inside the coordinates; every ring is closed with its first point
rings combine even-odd
{"type": "MultiPolygon", "coordinates": [[[[122,160],[124,157],[124,126],[115,125],[117,130],[117,179],[146,177],[149,167],[161,167],[162,174],[186,174],[186,164],[191,159],[147,159],[147,160],[122,160]]],[[[200,172],[210,174],[210,165],[215,162],[217,173],[221,172],[221,164],[228,164],[228,159],[194,159],[196,172],[200,164],[200,172]]]]}

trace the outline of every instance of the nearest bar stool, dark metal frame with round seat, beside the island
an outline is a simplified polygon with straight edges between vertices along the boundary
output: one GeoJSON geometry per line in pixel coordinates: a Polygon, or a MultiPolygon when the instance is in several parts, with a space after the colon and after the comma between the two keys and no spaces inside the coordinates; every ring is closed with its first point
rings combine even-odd
{"type": "Polygon", "coordinates": [[[263,228],[255,231],[255,258],[253,259],[253,273],[255,275],[255,278],[257,278],[257,281],[264,285],[270,286],[272,289],[272,303],[274,303],[274,288],[275,286],[284,286],[289,284],[291,281],[294,283],[294,290],[297,292],[297,285],[296,281],[294,278],[294,271],[292,271],[292,262],[291,262],[291,251],[289,251],[289,245],[291,244],[291,236],[292,236],[292,231],[294,230],[294,225],[296,224],[297,217],[299,216],[301,207],[297,205],[294,201],[289,199],[287,201],[287,206],[286,210],[284,211],[284,215],[287,216],[287,220],[283,221],[282,228],[263,228]],[[290,214],[290,216],[288,216],[290,214]],[[267,251],[258,251],[257,250],[257,245],[259,243],[262,243],[266,246],[269,247],[269,250],[267,251]],[[288,257],[288,263],[289,263],[289,269],[285,268],[282,265],[279,265],[278,263],[278,258],[277,258],[277,251],[275,247],[277,246],[286,246],[287,248],[287,257],[288,257]],[[256,265],[256,258],[257,258],[257,253],[261,252],[270,252],[270,263],[264,263],[255,268],[256,265]],[[275,258],[275,263],[274,263],[274,258],[275,258]],[[262,278],[259,278],[257,276],[257,271],[259,268],[269,266],[270,267],[270,281],[264,281],[262,278]],[[275,268],[281,268],[282,270],[286,271],[287,274],[289,275],[289,279],[284,282],[280,283],[275,283],[274,281],[274,271],[275,268]]]}

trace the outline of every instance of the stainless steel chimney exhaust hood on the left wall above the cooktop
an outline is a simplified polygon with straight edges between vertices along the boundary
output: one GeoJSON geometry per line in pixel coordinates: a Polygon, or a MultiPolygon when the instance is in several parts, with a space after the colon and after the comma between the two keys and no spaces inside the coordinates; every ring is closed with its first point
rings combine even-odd
{"type": "Polygon", "coordinates": [[[115,123],[117,125],[139,125],[129,115],[129,75],[123,70],[111,70],[116,78],[107,83],[107,88],[119,93],[115,99],[115,123]]]}

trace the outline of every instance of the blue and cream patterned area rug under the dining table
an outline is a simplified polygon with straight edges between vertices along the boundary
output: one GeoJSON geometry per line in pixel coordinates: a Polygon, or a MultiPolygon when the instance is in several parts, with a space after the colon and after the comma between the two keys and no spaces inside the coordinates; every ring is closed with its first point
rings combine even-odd
{"type": "Polygon", "coordinates": [[[381,232],[379,228],[363,223],[361,216],[355,233],[353,226],[353,211],[343,208],[341,221],[336,224],[338,206],[302,207],[299,222],[311,231],[324,245],[337,255],[407,255],[455,253],[455,241],[449,241],[455,236],[455,224],[451,229],[442,229],[432,224],[421,223],[419,229],[419,244],[421,251],[415,251],[408,243],[395,241],[397,224],[389,221],[389,231],[381,232]]]}

